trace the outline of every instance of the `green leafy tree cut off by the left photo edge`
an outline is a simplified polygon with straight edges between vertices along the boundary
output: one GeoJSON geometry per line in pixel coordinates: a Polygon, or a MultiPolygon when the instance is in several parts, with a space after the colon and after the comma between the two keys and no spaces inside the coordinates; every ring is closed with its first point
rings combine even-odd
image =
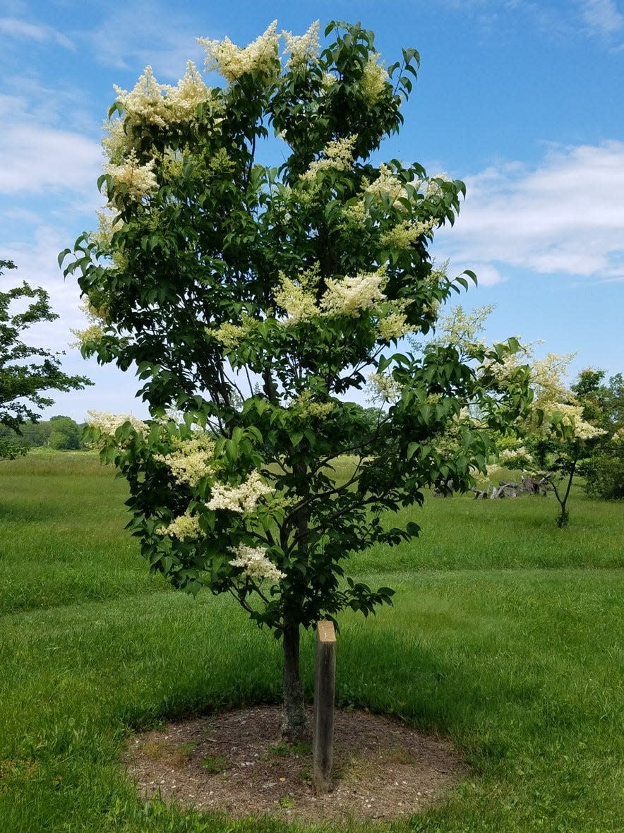
{"type": "MultiPolygon", "coordinates": [[[[4,269],[14,269],[12,261],[0,260],[0,276],[4,269]]],[[[47,292],[22,282],[7,292],[0,292],[0,426],[11,428],[19,435],[26,421],[37,421],[34,410],[52,405],[44,391],[80,390],[91,382],[82,376],[67,376],[61,370],[59,353],[43,347],[29,347],[21,341],[22,333],[33,324],[54,321],[47,292]],[[24,308],[23,301],[28,299],[24,308]],[[13,312],[13,307],[22,312],[13,312]],[[29,361],[34,359],[34,361],[29,361]]],[[[24,453],[26,446],[10,439],[0,441],[0,458],[24,453]]]]}

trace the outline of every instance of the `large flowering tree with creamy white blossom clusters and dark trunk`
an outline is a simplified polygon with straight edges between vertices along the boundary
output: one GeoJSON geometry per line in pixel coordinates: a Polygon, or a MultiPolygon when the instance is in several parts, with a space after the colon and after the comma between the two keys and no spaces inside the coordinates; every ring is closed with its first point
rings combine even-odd
{"type": "MultiPolygon", "coordinates": [[[[301,628],[392,601],[345,576],[349,553],[417,535],[382,516],[485,465],[467,402],[492,426],[527,403],[522,368],[502,387],[452,347],[396,352],[467,286],[428,253],[464,185],[371,161],[402,124],[416,50],[385,69],[372,32],[332,22],[330,35],[319,52],[317,24],[285,33],[282,58],[275,24],[245,48],[202,41],[227,86],[208,88],[189,63],[177,87],[147,67],[117,90],[100,179],[111,210],[60,255],[73,254],[65,273],[92,319],[82,351],[136,362],[152,414],[92,418],[130,484],[142,553],[174,586],[231,593],[282,639],[288,738],[306,724],[301,628]],[[269,128],[279,168],[258,161],[269,128]],[[375,421],[343,401],[367,375],[382,396],[375,421]],[[442,456],[433,440],[450,424],[462,442],[442,456]]],[[[472,359],[494,367],[512,349],[474,345],[472,359]]]]}

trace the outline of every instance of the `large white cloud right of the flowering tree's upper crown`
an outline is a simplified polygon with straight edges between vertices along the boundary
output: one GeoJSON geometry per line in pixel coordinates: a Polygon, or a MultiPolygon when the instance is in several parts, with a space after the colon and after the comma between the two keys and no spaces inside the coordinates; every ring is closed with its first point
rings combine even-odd
{"type": "Polygon", "coordinates": [[[490,167],[466,182],[455,226],[437,235],[454,267],[487,266],[485,283],[509,268],[624,280],[624,142],[554,147],[535,169],[490,167]]]}

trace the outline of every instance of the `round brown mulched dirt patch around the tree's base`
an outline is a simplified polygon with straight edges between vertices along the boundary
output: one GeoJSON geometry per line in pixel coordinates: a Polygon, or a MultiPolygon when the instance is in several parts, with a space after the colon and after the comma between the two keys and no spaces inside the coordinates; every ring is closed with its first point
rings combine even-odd
{"type": "MultiPolygon", "coordinates": [[[[310,715],[312,719],[312,715],[310,715]]],[[[284,821],[385,821],[422,811],[467,767],[447,741],[367,711],[337,710],[332,791],[312,791],[312,747],[280,741],[280,710],[255,706],[133,736],[124,756],[142,798],[284,821]]]]}

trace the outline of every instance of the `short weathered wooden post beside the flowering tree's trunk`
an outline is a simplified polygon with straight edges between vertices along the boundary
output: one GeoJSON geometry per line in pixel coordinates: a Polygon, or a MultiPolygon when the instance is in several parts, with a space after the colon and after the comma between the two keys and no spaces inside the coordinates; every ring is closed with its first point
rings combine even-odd
{"type": "Polygon", "coordinates": [[[332,776],[336,632],[333,622],[317,622],[317,663],[314,676],[312,786],[317,796],[329,792],[332,776]]]}

